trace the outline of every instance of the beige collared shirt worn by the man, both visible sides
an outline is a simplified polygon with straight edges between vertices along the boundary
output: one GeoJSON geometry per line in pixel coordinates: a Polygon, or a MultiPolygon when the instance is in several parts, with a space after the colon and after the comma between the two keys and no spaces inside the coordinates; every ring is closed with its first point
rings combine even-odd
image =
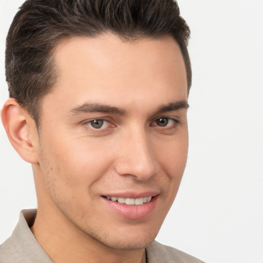
{"type": "MultiPolygon", "coordinates": [[[[11,235],[0,246],[0,263],[53,263],[41,248],[30,227],[34,223],[36,210],[23,210],[11,235]]],[[[177,249],[154,241],[146,248],[147,263],[203,263],[177,249]]]]}

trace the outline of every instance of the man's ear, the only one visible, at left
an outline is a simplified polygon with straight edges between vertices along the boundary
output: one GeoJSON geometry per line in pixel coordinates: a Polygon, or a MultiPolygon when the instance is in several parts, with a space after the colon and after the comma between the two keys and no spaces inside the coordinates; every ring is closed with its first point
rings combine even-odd
{"type": "Polygon", "coordinates": [[[8,99],[2,109],[2,121],[15,151],[25,161],[37,163],[39,135],[28,112],[15,99],[8,99]]]}

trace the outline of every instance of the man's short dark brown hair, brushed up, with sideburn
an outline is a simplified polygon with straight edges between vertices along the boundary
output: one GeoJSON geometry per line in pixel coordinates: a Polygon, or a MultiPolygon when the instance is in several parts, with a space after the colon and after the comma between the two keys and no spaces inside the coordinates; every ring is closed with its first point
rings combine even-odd
{"type": "Polygon", "coordinates": [[[43,97],[57,81],[52,51],[72,36],[112,32],[126,41],[172,35],[180,46],[187,74],[190,29],[174,0],[27,0],[16,13],[6,42],[6,80],[10,97],[39,126],[43,97]]]}

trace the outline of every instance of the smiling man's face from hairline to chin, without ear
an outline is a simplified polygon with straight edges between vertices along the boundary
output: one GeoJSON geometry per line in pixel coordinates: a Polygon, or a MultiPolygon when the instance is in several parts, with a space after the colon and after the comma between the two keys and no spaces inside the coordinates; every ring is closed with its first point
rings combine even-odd
{"type": "Polygon", "coordinates": [[[180,49],[172,37],[105,34],[65,41],[54,58],[59,80],[43,100],[33,165],[39,215],[107,247],[143,248],[174,201],[187,158],[180,49]]]}

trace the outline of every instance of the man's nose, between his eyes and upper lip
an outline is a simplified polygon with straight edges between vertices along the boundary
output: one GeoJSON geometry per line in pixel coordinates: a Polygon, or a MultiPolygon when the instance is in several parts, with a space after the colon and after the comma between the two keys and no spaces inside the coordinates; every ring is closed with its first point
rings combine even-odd
{"type": "Polygon", "coordinates": [[[144,129],[134,130],[119,141],[115,170],[119,175],[132,175],[147,180],[157,172],[151,139],[144,129]]]}

